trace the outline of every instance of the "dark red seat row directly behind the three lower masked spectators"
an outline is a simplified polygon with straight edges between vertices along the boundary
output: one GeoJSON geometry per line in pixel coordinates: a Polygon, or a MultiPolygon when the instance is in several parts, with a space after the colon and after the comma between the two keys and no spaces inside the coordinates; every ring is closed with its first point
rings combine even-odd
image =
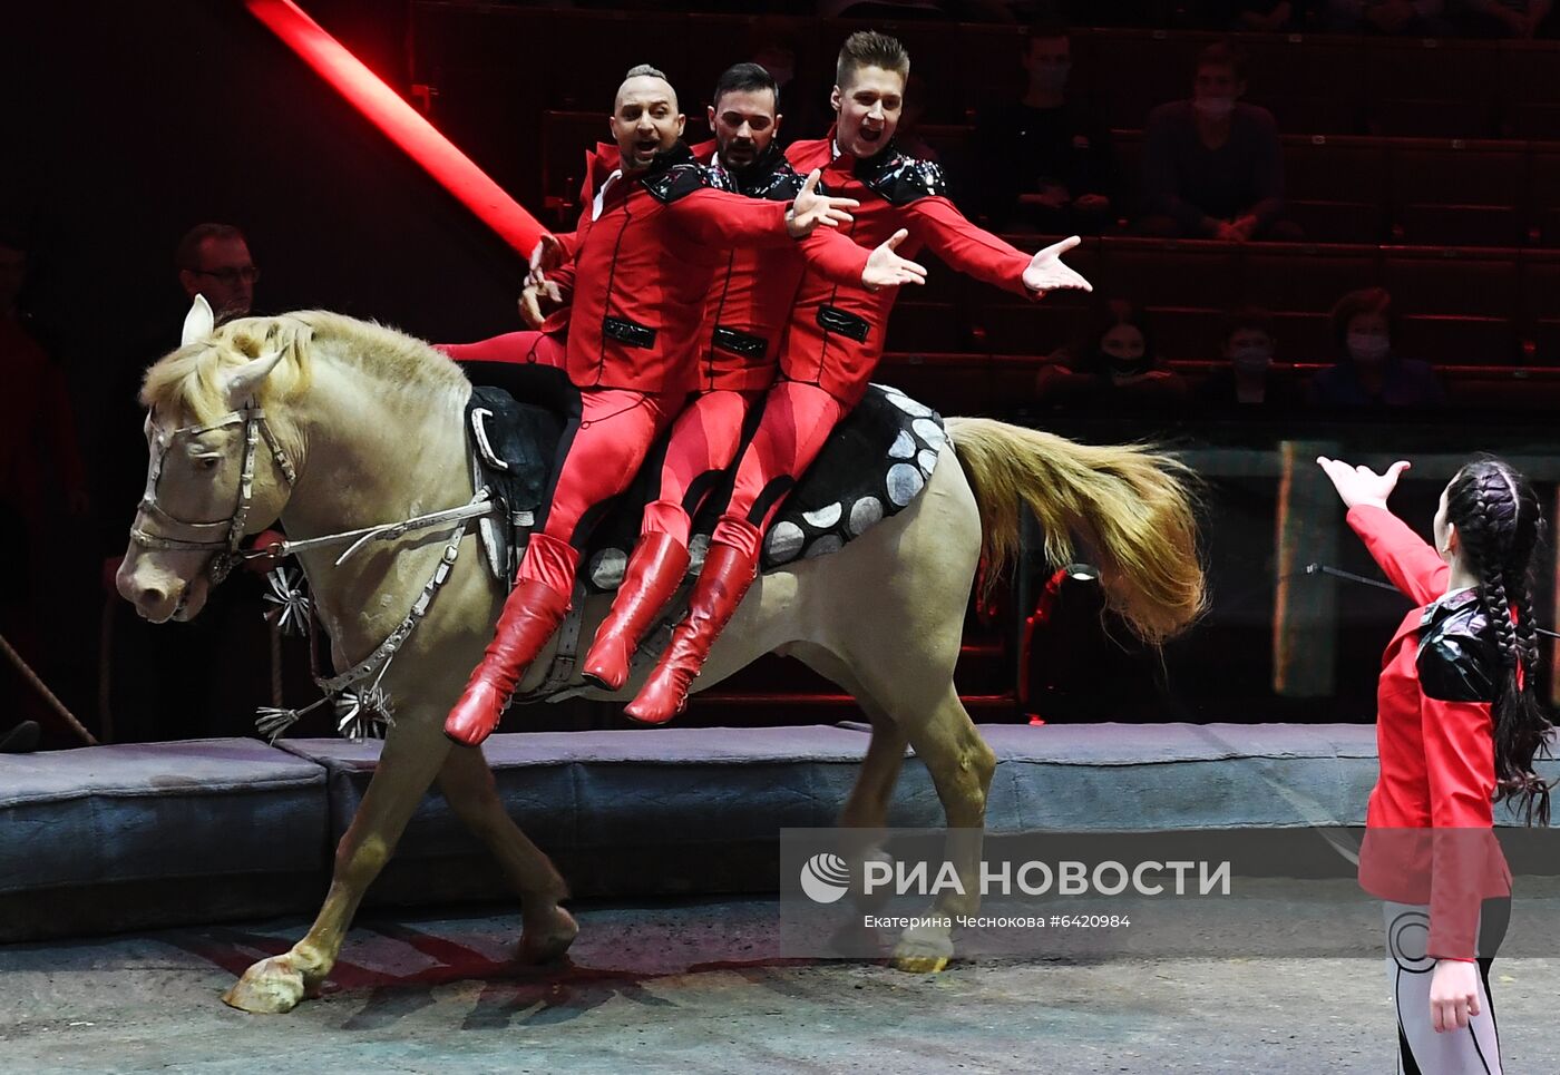
{"type": "MultiPolygon", "coordinates": [[[[1025,250],[1045,242],[1011,239],[1025,250]]],[[[1048,354],[1086,317],[1083,295],[1025,303],[927,261],[925,289],[895,306],[894,351],[1048,354]]],[[[1225,312],[1260,306],[1276,317],[1284,357],[1328,362],[1328,310],[1345,292],[1382,286],[1393,295],[1402,354],[1445,365],[1560,367],[1560,251],[1089,239],[1069,262],[1098,295],[1143,306],[1158,349],[1172,360],[1209,357],[1225,312]]]]}

